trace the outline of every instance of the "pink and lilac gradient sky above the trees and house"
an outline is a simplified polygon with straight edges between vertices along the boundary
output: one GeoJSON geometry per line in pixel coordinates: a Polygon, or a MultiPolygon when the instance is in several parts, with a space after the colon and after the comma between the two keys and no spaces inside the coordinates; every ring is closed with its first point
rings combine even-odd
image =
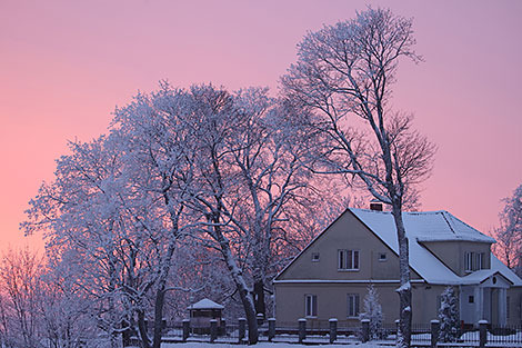
{"type": "Polygon", "coordinates": [[[188,87],[269,86],[305,31],[367,4],[414,18],[416,51],[394,107],[439,147],[423,210],[486,232],[522,183],[522,1],[0,1],[0,251],[29,243],[18,225],[67,141],[107,130],[117,105],[160,79],[188,87]]]}

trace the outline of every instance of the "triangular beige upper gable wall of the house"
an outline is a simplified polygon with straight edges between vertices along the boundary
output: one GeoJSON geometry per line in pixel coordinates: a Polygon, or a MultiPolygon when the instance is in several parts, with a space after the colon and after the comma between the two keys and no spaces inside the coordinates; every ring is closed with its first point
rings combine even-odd
{"type": "MultiPolygon", "coordinates": [[[[412,270],[412,279],[420,277],[412,270]]],[[[352,213],[343,213],[279,277],[284,279],[396,280],[399,257],[352,213]],[[359,250],[359,270],[338,270],[338,250],[359,250]],[[312,261],[319,253],[319,261],[312,261]],[[380,261],[379,255],[387,260],[380,261]]]]}

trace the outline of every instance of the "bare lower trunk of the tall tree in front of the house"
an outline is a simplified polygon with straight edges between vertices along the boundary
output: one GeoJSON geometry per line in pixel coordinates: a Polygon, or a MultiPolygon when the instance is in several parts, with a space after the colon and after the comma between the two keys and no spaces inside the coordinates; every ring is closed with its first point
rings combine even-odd
{"type": "Polygon", "coordinates": [[[402,220],[402,209],[400,203],[393,202],[392,213],[395,220],[396,238],[399,241],[399,272],[401,286],[399,292],[399,332],[398,347],[408,348],[411,344],[411,284],[410,284],[410,251],[408,238],[405,236],[404,222],[402,220]]]}

